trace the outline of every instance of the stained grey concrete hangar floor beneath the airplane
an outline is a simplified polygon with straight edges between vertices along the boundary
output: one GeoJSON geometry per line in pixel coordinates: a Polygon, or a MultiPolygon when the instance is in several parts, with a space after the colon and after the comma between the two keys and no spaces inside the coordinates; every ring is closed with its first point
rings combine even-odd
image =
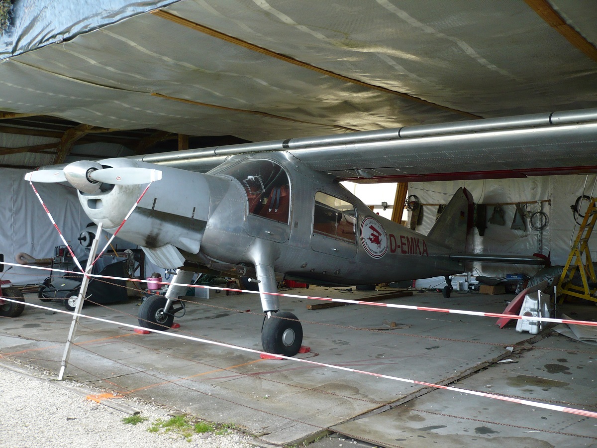
{"type": "MultiPolygon", "coordinates": [[[[360,299],[368,291],[290,290],[360,299]]],[[[415,293],[387,300],[405,305],[501,312],[511,295],[454,291],[415,293]]],[[[253,294],[189,300],[179,333],[260,349],[263,315],[253,294]],[[248,311],[250,310],[250,311],[248,311]]],[[[27,302],[42,304],[38,299],[27,302]]],[[[534,336],[495,318],[367,305],[307,311],[313,300],[282,298],[281,308],[303,323],[299,354],[326,364],[405,379],[453,384],[498,394],[597,411],[597,347],[551,330],[534,336]],[[395,329],[384,321],[396,323],[395,329]],[[512,354],[507,346],[515,347],[512,354]],[[512,358],[513,363],[498,360],[512,358]]],[[[136,324],[139,300],[85,306],[83,313],[136,324]]],[[[43,303],[64,309],[58,302],[43,303]]],[[[567,305],[590,320],[597,307],[567,305]]],[[[0,352],[8,359],[58,372],[70,315],[31,307],[0,321],[0,352]]],[[[597,446],[597,421],[499,400],[376,378],[330,367],[259,355],[82,318],[70,378],[166,404],[210,421],[232,422],[263,446],[313,440],[314,448],[346,446],[597,446]],[[339,435],[338,435],[339,434],[339,435]],[[359,440],[353,443],[351,437],[359,440]]]]}

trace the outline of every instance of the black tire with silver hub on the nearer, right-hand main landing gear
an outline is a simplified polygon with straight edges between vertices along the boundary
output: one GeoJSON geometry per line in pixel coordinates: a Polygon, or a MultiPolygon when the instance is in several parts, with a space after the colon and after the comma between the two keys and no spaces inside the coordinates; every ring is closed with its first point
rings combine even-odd
{"type": "Polygon", "coordinates": [[[288,311],[279,311],[265,319],[261,331],[261,345],[268,353],[294,356],[303,343],[303,326],[288,311]]]}

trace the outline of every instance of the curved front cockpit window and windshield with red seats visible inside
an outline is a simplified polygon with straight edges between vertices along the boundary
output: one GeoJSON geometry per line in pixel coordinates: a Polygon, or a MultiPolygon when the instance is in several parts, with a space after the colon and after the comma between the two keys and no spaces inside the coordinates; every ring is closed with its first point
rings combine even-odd
{"type": "Polygon", "coordinates": [[[270,160],[242,161],[218,174],[241,182],[247,194],[249,213],[288,224],[290,219],[290,179],[270,160]]]}

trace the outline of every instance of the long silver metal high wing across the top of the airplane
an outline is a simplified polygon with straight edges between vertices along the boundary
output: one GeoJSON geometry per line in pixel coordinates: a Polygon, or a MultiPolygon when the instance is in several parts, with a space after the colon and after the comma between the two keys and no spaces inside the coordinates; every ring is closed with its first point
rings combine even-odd
{"type": "Polygon", "coordinates": [[[407,126],[131,157],[208,171],[230,155],[286,151],[356,182],[496,179],[597,170],[597,109],[407,126]]]}

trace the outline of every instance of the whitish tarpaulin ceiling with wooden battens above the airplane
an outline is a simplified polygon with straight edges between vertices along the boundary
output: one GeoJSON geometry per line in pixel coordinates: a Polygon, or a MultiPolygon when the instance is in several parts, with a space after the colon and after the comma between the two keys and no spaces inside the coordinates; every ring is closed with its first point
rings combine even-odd
{"type": "Polygon", "coordinates": [[[567,0],[17,0],[0,110],[260,141],[595,108],[596,22],[567,0]]]}

